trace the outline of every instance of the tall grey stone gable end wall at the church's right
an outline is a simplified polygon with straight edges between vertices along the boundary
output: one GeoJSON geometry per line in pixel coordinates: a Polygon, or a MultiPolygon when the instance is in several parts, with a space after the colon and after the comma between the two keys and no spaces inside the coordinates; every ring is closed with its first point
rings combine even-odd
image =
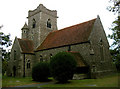
{"type": "Polygon", "coordinates": [[[115,66],[112,64],[109,43],[99,17],[95,21],[89,40],[95,53],[93,65],[96,67],[96,75],[99,76],[116,71],[115,66]],[[101,44],[103,52],[101,52],[101,44]]]}

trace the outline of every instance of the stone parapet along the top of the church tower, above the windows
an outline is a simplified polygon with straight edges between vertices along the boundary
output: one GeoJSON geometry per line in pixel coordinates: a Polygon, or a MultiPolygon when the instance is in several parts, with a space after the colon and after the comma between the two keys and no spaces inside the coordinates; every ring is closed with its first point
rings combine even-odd
{"type": "Polygon", "coordinates": [[[29,10],[28,12],[28,18],[39,13],[39,12],[43,12],[43,13],[46,13],[46,14],[49,14],[53,17],[57,17],[57,11],[56,10],[49,10],[47,9],[43,4],[40,4],[35,10],[29,10]]]}

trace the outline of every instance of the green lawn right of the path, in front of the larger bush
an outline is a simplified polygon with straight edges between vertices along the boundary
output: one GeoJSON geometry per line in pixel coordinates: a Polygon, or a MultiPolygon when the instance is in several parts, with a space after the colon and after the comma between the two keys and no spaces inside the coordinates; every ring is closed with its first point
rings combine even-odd
{"type": "Polygon", "coordinates": [[[70,80],[69,82],[66,84],[57,84],[55,82],[41,87],[118,87],[118,74],[106,76],[101,79],[70,80]]]}

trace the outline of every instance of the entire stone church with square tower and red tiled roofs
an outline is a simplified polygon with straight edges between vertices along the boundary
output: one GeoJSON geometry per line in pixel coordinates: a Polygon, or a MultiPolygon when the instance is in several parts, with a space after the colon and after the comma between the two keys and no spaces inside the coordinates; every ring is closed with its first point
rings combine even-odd
{"type": "Polygon", "coordinates": [[[32,67],[49,61],[58,52],[75,56],[78,73],[90,73],[91,78],[114,71],[109,43],[99,16],[70,27],[57,29],[57,11],[40,4],[29,10],[28,23],[22,27],[22,37],[15,37],[8,76],[31,76],[32,67]],[[94,76],[95,75],[95,76],[94,76]]]}

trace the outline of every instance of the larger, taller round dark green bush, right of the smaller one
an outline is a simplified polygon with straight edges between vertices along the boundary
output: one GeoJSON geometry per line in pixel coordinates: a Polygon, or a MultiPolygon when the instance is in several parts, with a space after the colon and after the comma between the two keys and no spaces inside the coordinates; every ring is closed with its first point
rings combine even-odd
{"type": "Polygon", "coordinates": [[[60,52],[51,58],[51,74],[60,83],[65,83],[69,79],[72,79],[75,68],[76,61],[68,52],[60,52]]]}

